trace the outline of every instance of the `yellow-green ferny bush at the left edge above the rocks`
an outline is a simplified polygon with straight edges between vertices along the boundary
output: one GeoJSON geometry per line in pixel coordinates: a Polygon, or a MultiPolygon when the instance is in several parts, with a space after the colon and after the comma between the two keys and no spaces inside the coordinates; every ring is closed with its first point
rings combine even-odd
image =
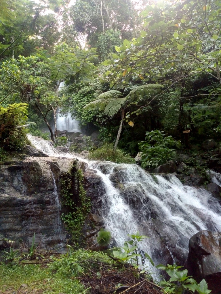
{"type": "Polygon", "coordinates": [[[0,105],[0,147],[18,150],[27,143],[26,130],[16,128],[27,121],[28,104],[13,103],[6,108],[0,105]]]}

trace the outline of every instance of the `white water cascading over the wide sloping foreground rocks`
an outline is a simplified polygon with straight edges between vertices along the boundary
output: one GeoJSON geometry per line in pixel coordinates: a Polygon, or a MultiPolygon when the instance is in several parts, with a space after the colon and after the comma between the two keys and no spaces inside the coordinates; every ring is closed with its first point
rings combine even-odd
{"type": "MultiPolygon", "coordinates": [[[[49,156],[76,158],[57,153],[49,141],[31,135],[29,140],[49,156]]],[[[156,175],[154,179],[136,164],[79,160],[102,178],[102,216],[105,228],[115,237],[115,246],[122,246],[129,239],[127,234],[139,230],[150,237],[140,248],[158,264],[164,260],[165,248],[173,260],[171,250],[186,257],[189,239],[199,230],[221,231],[221,206],[208,191],[183,186],[172,175],[156,175]]],[[[152,267],[147,260],[145,265],[152,267]]]]}

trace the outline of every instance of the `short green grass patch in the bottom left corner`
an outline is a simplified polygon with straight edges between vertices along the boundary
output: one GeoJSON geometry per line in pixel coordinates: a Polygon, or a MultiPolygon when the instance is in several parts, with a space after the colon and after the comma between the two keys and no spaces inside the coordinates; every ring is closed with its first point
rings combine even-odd
{"type": "Polygon", "coordinates": [[[86,294],[88,290],[76,278],[64,278],[60,273],[52,273],[40,265],[0,264],[0,290],[17,290],[22,284],[39,292],[86,294]],[[6,287],[3,287],[6,286],[6,287]]]}

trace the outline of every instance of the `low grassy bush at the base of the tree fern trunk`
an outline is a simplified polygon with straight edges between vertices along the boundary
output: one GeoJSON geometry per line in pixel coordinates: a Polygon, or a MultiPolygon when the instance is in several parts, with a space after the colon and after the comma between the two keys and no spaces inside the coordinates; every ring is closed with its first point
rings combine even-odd
{"type": "Polygon", "coordinates": [[[102,148],[90,151],[89,159],[107,160],[115,163],[135,163],[134,158],[126,152],[120,149],[114,150],[112,144],[104,144],[102,148]]]}

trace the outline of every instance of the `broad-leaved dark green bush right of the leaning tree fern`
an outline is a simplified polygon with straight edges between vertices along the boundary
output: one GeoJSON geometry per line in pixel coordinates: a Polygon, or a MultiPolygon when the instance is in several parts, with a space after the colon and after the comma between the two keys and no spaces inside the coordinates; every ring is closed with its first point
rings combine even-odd
{"type": "Polygon", "coordinates": [[[162,131],[156,130],[146,132],[146,141],[139,143],[142,168],[152,168],[164,164],[168,160],[176,158],[176,152],[171,146],[180,146],[180,141],[174,140],[171,136],[164,137],[162,131]]]}

